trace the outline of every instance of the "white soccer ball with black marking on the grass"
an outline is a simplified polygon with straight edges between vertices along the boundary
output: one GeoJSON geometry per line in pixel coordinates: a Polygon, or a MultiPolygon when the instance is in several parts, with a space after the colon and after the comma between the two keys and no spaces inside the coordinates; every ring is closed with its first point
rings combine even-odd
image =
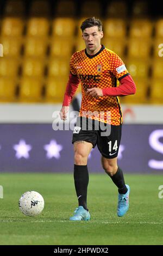
{"type": "Polygon", "coordinates": [[[44,200],[41,194],[36,191],[28,191],[22,194],[18,201],[19,209],[26,216],[41,214],[44,208],[44,200]]]}

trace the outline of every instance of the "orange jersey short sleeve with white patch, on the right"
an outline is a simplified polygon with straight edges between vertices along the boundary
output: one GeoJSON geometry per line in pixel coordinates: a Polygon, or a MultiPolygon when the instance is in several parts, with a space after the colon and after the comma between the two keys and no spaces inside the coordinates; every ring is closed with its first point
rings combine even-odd
{"type": "Polygon", "coordinates": [[[129,75],[129,72],[124,65],[122,59],[116,54],[112,53],[110,56],[110,71],[118,80],[121,80],[124,76],[129,75]]]}

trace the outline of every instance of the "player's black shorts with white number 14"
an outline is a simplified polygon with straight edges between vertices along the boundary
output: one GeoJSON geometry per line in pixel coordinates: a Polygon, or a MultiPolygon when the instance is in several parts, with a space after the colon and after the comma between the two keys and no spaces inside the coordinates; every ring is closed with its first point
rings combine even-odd
{"type": "Polygon", "coordinates": [[[98,147],[107,159],[117,157],[121,142],[122,125],[108,125],[89,118],[78,117],[74,127],[72,143],[86,141],[98,147]]]}

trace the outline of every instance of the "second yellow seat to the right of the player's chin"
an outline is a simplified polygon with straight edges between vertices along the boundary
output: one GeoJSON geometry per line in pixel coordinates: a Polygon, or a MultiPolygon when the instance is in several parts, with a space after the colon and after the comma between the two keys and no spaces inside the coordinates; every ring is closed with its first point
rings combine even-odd
{"type": "Polygon", "coordinates": [[[151,53],[151,40],[130,38],[128,41],[128,56],[141,58],[149,57],[151,53]]]}

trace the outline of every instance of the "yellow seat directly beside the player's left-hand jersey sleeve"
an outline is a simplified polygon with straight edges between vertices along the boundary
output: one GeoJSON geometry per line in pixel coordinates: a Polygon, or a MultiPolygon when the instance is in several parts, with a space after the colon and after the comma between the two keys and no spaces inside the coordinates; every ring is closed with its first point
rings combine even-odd
{"type": "Polygon", "coordinates": [[[70,72],[70,59],[52,58],[48,63],[48,76],[67,76],[70,72]]]}

